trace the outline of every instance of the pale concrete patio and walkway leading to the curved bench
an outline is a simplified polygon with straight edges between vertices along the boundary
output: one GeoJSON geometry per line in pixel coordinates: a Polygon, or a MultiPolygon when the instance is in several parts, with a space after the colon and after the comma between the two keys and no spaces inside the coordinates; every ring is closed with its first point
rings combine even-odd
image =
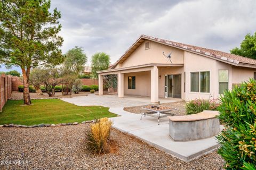
{"type": "MultiPolygon", "coordinates": [[[[140,114],[134,114],[123,110],[124,106],[138,106],[149,104],[146,99],[139,98],[118,98],[117,96],[87,96],[62,99],[78,106],[101,105],[110,107],[109,111],[120,116],[113,117],[113,127],[123,132],[134,135],[150,145],[164,150],[167,153],[182,160],[189,161],[216,149],[219,145],[217,140],[207,138],[203,140],[189,142],[175,142],[169,136],[169,120],[161,118],[160,125],[157,125],[157,119],[154,117],[143,117],[140,120],[140,114]]],[[[150,100],[149,100],[150,101],[150,100]]],[[[175,100],[174,100],[175,101],[175,100]]]]}

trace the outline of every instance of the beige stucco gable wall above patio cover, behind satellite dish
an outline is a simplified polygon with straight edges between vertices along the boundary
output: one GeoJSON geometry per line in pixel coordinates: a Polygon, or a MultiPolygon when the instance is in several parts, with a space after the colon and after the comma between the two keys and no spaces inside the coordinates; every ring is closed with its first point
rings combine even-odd
{"type": "MultiPolygon", "coordinates": [[[[167,58],[163,55],[172,52],[171,60],[173,64],[183,64],[183,51],[167,45],[150,41],[150,48],[145,49],[145,41],[122,63],[117,64],[115,69],[135,65],[161,63],[166,64],[167,58]]],[[[170,61],[168,62],[170,64],[170,61]]]]}

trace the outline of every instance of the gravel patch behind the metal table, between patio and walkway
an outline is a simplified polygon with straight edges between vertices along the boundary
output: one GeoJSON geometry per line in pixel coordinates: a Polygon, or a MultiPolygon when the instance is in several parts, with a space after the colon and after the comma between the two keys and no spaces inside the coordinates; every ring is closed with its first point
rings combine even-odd
{"type": "MultiPolygon", "coordinates": [[[[181,116],[181,115],[186,115],[185,104],[186,104],[185,101],[178,101],[178,102],[173,102],[173,103],[163,103],[160,105],[168,106],[171,108],[177,108],[177,110],[172,111],[170,113],[173,113],[175,116],[181,116]]],[[[141,107],[143,107],[143,106],[125,107],[124,111],[131,112],[131,113],[141,113],[142,112],[141,107]]],[[[143,110],[143,112],[150,112],[150,111],[143,110]]]]}

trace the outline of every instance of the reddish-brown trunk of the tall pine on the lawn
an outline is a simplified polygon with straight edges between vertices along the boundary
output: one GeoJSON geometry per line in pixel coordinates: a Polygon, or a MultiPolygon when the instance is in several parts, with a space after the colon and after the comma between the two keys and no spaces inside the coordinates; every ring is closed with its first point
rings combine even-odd
{"type": "Polygon", "coordinates": [[[29,95],[29,69],[27,71],[25,69],[22,70],[22,76],[23,76],[23,85],[24,85],[24,90],[23,90],[23,101],[24,105],[30,105],[31,100],[30,100],[30,95],[29,95]]]}

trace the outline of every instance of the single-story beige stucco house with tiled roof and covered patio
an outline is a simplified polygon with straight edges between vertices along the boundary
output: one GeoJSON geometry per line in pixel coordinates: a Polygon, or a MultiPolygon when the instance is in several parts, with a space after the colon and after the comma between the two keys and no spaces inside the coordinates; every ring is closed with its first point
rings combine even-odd
{"type": "Polygon", "coordinates": [[[109,70],[98,74],[99,95],[105,75],[115,74],[118,97],[150,96],[153,103],[159,97],[209,99],[255,79],[256,60],[141,35],[109,70]]]}

